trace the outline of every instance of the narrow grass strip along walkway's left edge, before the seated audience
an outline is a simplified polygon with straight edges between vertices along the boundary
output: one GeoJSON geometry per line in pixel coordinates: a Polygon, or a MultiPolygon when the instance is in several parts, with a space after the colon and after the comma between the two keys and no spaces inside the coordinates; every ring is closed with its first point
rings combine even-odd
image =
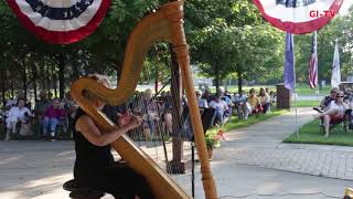
{"type": "MultiPolygon", "coordinates": [[[[258,123],[261,121],[266,121],[266,119],[282,115],[285,113],[288,113],[288,112],[289,112],[288,109],[271,109],[270,114],[252,116],[247,121],[239,121],[237,116],[233,116],[232,123],[229,123],[229,122],[226,123],[224,125],[223,129],[224,129],[224,132],[229,132],[232,129],[250,126],[252,124],[255,124],[255,123],[258,123]]],[[[218,128],[211,128],[207,132],[216,132],[216,130],[218,130],[218,128]]]]}

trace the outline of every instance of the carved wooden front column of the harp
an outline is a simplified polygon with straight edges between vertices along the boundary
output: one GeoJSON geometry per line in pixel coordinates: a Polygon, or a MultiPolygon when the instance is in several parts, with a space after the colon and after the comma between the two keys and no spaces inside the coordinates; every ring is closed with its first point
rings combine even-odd
{"type": "Polygon", "coordinates": [[[191,123],[195,135],[195,143],[197,148],[197,155],[201,163],[202,182],[205,191],[205,198],[217,198],[215,182],[210,168],[210,161],[207,157],[206,144],[203,134],[202,121],[200,116],[200,109],[196,101],[194,84],[190,70],[190,55],[189,45],[186,43],[184,28],[183,28],[183,6],[179,7],[180,10],[175,10],[173,7],[165,6],[163,13],[171,23],[171,42],[174,46],[176,54],[176,61],[181,70],[183,86],[188,97],[189,109],[191,114],[191,123]]]}

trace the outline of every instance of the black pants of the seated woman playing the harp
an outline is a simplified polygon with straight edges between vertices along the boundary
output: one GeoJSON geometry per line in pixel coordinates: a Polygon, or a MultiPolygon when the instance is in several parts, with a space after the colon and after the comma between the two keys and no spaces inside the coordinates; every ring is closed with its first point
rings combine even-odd
{"type": "Polygon", "coordinates": [[[126,165],[117,164],[113,169],[89,181],[90,186],[118,199],[133,199],[135,196],[141,199],[154,198],[145,177],[126,165]]]}

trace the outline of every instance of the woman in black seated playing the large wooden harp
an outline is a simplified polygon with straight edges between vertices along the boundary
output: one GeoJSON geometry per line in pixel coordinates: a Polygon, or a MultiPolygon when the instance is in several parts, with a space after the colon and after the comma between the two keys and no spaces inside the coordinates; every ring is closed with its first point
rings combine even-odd
{"type": "MultiPolygon", "coordinates": [[[[108,87],[104,77],[92,76],[108,87]]],[[[103,108],[103,102],[88,93],[85,97],[97,108],[103,108]]],[[[118,127],[113,132],[103,133],[83,109],[78,109],[74,119],[74,140],[76,160],[74,178],[78,185],[89,186],[108,192],[115,198],[154,198],[146,179],[128,166],[118,166],[110,151],[110,144],[125,133],[141,126],[141,119],[132,115],[124,115],[118,121],[118,127]]],[[[120,164],[121,165],[121,164],[120,164]]]]}

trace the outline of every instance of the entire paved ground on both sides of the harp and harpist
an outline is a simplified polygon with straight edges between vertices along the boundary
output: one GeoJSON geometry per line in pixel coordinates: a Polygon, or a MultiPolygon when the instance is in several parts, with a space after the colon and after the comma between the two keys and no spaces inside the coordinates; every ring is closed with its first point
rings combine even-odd
{"type": "MultiPolygon", "coordinates": [[[[353,187],[342,180],[352,179],[352,148],[281,144],[295,130],[293,118],[290,113],[226,134],[212,161],[220,198],[342,198],[353,187]]],[[[299,109],[298,125],[311,119],[299,109]]],[[[72,178],[74,158],[72,142],[0,142],[0,198],[68,198],[62,185],[72,178]]],[[[204,198],[200,172],[196,198],[204,198]]]]}

